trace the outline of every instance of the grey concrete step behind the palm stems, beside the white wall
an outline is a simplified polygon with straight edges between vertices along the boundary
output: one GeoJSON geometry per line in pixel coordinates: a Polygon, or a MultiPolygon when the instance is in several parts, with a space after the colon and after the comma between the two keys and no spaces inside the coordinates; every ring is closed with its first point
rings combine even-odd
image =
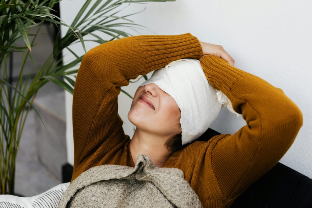
{"type": "Polygon", "coordinates": [[[38,160],[61,180],[61,166],[67,162],[65,91],[36,97],[33,102],[49,135],[36,114],[34,121],[38,160]]]}

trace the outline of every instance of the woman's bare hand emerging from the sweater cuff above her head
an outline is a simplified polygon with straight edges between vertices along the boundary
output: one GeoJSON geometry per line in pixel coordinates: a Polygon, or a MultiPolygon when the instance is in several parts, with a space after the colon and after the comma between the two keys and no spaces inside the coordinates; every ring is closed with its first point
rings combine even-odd
{"type": "Polygon", "coordinates": [[[221,57],[225,59],[231,66],[234,66],[234,59],[223,49],[220,45],[214,45],[211,43],[206,43],[199,41],[202,45],[202,55],[208,54],[208,55],[214,55],[217,57],[221,57]]]}

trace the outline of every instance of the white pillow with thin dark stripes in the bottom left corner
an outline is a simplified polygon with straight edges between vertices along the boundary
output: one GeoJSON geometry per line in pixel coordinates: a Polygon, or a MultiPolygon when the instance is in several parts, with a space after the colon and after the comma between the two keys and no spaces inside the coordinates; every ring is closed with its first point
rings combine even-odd
{"type": "Polygon", "coordinates": [[[0,195],[0,208],[58,208],[61,198],[69,186],[70,182],[61,183],[42,194],[32,197],[19,197],[9,194],[0,195]]]}

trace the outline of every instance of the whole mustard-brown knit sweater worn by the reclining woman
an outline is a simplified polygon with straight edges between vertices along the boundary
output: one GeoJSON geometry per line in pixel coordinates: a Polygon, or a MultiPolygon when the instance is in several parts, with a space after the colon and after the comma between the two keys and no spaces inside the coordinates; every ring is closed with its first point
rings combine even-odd
{"type": "Polygon", "coordinates": [[[71,181],[98,165],[134,167],[130,138],[117,114],[120,87],[182,58],[200,59],[209,83],[227,95],[247,124],[234,134],[188,144],[163,167],[183,170],[204,207],[229,207],[281,159],[303,125],[302,112],[282,89],[222,58],[202,56],[200,42],[190,33],[130,36],[96,46],[81,62],[72,108],[71,181]]]}

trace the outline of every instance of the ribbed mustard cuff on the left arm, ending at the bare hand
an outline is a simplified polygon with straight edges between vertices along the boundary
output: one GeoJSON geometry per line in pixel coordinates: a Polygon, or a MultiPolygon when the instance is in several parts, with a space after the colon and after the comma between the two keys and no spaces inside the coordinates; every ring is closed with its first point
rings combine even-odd
{"type": "Polygon", "coordinates": [[[182,58],[199,59],[203,53],[199,40],[191,33],[179,35],[139,35],[133,37],[144,50],[147,71],[154,70],[156,65],[162,67],[168,64],[167,62],[170,58],[172,60],[182,58]]]}

